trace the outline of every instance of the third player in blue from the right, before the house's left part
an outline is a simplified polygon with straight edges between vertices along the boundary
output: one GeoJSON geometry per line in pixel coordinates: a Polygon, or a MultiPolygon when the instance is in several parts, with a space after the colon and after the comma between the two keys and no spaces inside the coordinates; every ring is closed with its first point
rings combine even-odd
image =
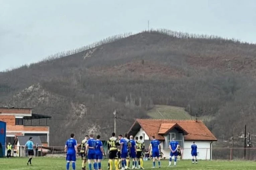
{"type": "Polygon", "coordinates": [[[149,151],[152,149],[152,157],[153,157],[153,168],[156,167],[156,158],[158,160],[158,167],[160,168],[160,151],[161,151],[161,145],[159,140],[155,139],[155,136],[151,137],[151,142],[149,145],[149,151]]]}

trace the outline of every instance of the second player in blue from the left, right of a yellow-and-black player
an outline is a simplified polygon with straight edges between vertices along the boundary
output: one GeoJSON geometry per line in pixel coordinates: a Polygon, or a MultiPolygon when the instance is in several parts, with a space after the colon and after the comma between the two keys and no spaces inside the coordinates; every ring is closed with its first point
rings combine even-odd
{"type": "Polygon", "coordinates": [[[90,134],[90,139],[87,141],[86,145],[86,153],[87,153],[87,158],[88,158],[88,166],[89,170],[92,170],[92,160],[93,160],[93,168],[97,169],[97,161],[96,161],[96,147],[97,143],[96,140],[93,139],[93,135],[90,134]]]}

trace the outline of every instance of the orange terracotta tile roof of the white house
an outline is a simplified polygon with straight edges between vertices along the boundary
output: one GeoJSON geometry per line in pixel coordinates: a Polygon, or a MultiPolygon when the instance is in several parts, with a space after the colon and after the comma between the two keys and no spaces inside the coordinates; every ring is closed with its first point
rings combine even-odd
{"type": "Polygon", "coordinates": [[[158,140],[164,140],[164,137],[161,134],[165,134],[166,131],[169,131],[178,124],[188,133],[184,136],[185,140],[217,141],[216,137],[200,120],[196,122],[194,120],[137,119],[136,121],[149,137],[155,136],[158,140]]]}

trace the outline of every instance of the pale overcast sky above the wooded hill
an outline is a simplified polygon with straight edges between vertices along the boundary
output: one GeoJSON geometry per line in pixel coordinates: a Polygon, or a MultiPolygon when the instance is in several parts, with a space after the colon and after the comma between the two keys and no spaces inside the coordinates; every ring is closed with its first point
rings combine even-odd
{"type": "Polygon", "coordinates": [[[0,71],[105,37],[166,28],[256,43],[255,0],[0,0],[0,71]]]}

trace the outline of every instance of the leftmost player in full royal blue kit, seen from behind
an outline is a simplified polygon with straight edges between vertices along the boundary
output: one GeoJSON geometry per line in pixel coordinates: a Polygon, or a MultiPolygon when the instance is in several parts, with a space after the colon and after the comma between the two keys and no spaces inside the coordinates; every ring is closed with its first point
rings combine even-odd
{"type": "Polygon", "coordinates": [[[73,170],[76,169],[76,154],[78,153],[78,151],[77,151],[77,142],[74,139],[74,136],[75,135],[72,133],[70,135],[70,139],[67,140],[66,145],[65,145],[65,152],[67,153],[67,157],[66,157],[66,160],[67,160],[67,164],[66,164],[67,170],[69,170],[70,161],[72,161],[72,168],[73,168],[73,170]]]}

